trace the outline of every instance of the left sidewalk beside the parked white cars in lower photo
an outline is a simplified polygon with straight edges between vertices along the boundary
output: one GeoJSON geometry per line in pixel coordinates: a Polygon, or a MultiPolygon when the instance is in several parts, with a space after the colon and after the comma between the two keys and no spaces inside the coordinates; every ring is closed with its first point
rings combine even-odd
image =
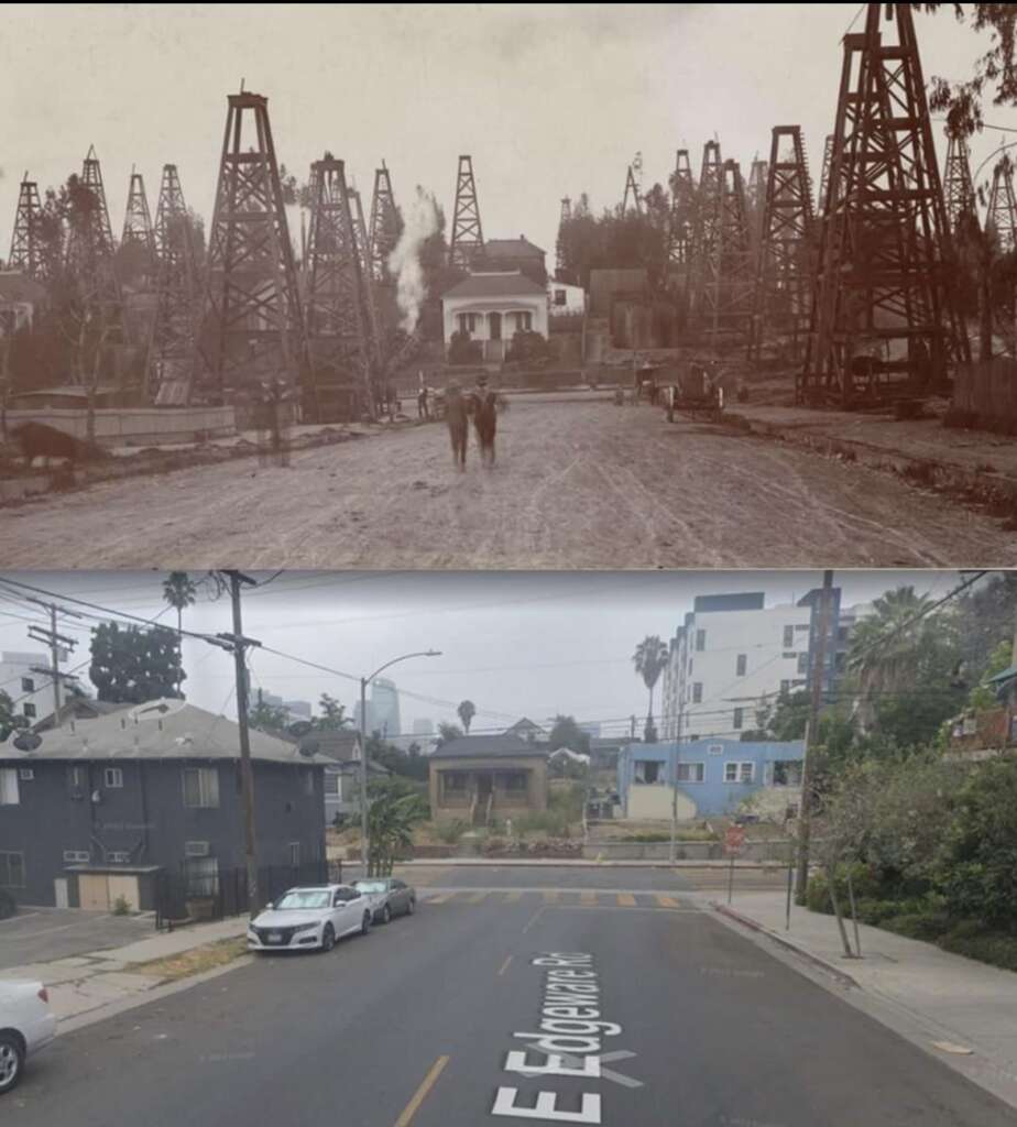
{"type": "MultiPolygon", "coordinates": [[[[50,1008],[61,1027],[78,1024],[78,1019],[121,1003],[161,985],[151,974],[140,974],[134,968],[152,959],[163,959],[194,950],[205,943],[235,939],[247,931],[247,916],[221,920],[215,923],[194,924],[174,932],[156,932],[149,939],[135,940],[124,947],[76,955],[52,962],[33,962],[0,971],[2,978],[28,978],[41,982],[50,992],[50,1008]]],[[[194,982],[195,979],[189,979],[194,982]]],[[[87,1023],[87,1022],[81,1022],[87,1023]]]]}

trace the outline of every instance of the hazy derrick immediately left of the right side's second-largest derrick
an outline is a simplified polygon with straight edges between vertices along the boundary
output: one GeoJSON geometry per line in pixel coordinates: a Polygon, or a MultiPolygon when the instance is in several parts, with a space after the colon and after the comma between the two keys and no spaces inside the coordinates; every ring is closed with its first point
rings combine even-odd
{"type": "Polygon", "coordinates": [[[745,185],[737,161],[726,160],[714,195],[713,237],[704,263],[700,327],[714,337],[744,332],[752,319],[755,284],[745,185]]]}

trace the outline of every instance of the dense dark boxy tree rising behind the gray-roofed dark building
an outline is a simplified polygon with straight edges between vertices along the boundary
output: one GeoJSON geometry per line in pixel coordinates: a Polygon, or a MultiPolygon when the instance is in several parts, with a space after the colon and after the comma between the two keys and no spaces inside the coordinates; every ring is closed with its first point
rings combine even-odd
{"type": "Polygon", "coordinates": [[[104,622],[91,638],[88,675],[100,701],[143,704],[177,696],[187,675],[180,667],[177,636],[167,627],[122,627],[104,622]]]}

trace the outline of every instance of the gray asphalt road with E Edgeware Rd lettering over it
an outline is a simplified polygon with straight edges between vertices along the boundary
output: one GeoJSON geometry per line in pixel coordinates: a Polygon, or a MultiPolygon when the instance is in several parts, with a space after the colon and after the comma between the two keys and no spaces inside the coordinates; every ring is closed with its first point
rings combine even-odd
{"type": "MultiPolygon", "coordinates": [[[[260,958],[59,1038],[3,1099],[5,1124],[1012,1122],[681,895],[427,890],[422,902],[330,955],[260,958]],[[599,1077],[506,1071],[530,1041],[515,1035],[541,1022],[547,968],[533,960],[547,952],[572,952],[566,969],[584,971],[600,1020],[620,1027],[602,1037],[599,1077]],[[580,1112],[585,1093],[587,1115],[493,1115],[510,1088],[515,1107],[556,1093],[558,1112],[580,1112]]],[[[524,1063],[551,1062],[531,1049],[524,1063]]]]}

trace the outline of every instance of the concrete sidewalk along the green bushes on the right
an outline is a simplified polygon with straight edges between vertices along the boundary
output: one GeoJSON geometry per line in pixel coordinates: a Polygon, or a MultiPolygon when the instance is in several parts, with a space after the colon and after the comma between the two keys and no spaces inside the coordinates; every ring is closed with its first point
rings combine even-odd
{"type": "MultiPolygon", "coordinates": [[[[785,930],[784,891],[735,891],[723,915],[752,928],[833,971],[854,1004],[860,993],[878,1003],[867,1009],[914,1044],[1017,1107],[1017,974],[931,943],[859,924],[860,959],[846,959],[833,916],[792,904],[785,930]],[[958,1051],[963,1049],[965,1051],[958,1051]]],[[[854,928],[848,921],[854,948],[854,928]]]]}

